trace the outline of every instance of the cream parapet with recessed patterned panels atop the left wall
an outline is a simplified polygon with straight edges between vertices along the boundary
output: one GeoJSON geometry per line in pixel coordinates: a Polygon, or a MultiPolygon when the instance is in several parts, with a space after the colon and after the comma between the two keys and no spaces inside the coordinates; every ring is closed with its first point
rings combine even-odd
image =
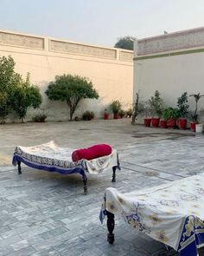
{"type": "Polygon", "coordinates": [[[121,62],[133,62],[133,51],[131,50],[106,48],[84,43],[73,43],[10,31],[0,31],[0,45],[26,49],[41,49],[47,52],[90,56],[121,62]]]}

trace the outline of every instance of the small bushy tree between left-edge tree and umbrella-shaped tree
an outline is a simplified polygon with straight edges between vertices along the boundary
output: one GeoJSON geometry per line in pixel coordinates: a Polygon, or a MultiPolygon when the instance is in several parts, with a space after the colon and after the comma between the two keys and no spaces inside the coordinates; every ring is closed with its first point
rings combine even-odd
{"type": "Polygon", "coordinates": [[[40,107],[40,89],[30,83],[29,74],[27,75],[25,82],[21,81],[13,87],[10,93],[10,105],[22,122],[24,121],[28,108],[40,107]]]}

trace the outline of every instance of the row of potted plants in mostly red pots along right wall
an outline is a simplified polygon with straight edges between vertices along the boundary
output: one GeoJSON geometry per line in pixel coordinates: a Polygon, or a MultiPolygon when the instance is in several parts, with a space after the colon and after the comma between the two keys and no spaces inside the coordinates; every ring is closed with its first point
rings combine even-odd
{"type": "Polygon", "coordinates": [[[191,130],[195,131],[195,125],[199,122],[197,112],[198,102],[204,95],[199,93],[189,96],[193,96],[195,100],[195,108],[193,113],[188,111],[189,105],[187,92],[184,92],[178,98],[177,108],[165,108],[163,99],[157,90],[155,95],[153,95],[148,102],[144,102],[144,104],[140,103],[140,108],[138,108],[137,104],[137,112],[142,115],[144,114],[145,118],[143,121],[145,126],[150,126],[150,124],[152,127],[160,126],[161,128],[175,128],[178,126],[181,129],[185,129],[187,128],[187,120],[191,119],[191,130]]]}

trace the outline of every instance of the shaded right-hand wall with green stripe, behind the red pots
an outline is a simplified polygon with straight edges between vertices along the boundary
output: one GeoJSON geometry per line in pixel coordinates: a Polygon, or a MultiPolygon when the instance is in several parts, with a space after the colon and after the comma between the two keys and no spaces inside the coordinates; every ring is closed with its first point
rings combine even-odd
{"type": "MultiPolygon", "coordinates": [[[[176,107],[183,92],[204,94],[204,28],[141,39],[135,43],[134,92],[147,101],[159,90],[176,107]]],[[[194,98],[188,98],[194,109],[194,98]]],[[[204,98],[199,102],[204,108],[204,98]]]]}

